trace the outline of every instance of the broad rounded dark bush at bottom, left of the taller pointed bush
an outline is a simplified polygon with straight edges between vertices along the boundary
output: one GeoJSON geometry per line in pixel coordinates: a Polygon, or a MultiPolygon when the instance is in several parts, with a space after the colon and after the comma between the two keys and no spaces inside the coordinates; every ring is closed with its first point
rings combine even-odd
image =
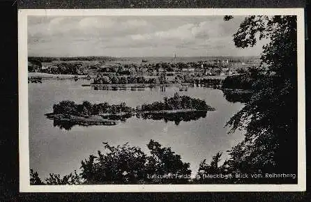
{"type": "Polygon", "coordinates": [[[82,161],[82,178],[86,184],[137,184],[144,180],[146,155],[140,148],[109,146],[104,143],[107,153],[98,151],[98,156],[90,155],[82,161]]]}

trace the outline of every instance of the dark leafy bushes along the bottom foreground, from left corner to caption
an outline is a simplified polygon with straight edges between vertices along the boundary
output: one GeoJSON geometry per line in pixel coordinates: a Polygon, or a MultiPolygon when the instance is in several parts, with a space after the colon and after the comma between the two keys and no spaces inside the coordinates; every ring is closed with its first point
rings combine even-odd
{"type": "Polygon", "coordinates": [[[75,171],[61,177],[51,173],[43,182],[38,173],[31,170],[31,185],[183,184],[189,180],[189,164],[182,162],[181,156],[171,148],[162,147],[152,139],[147,144],[150,155],[128,143],[121,146],[103,144],[105,153],[98,151],[98,155],[82,160],[79,174],[75,171]],[[163,178],[169,174],[177,176],[163,178]]]}

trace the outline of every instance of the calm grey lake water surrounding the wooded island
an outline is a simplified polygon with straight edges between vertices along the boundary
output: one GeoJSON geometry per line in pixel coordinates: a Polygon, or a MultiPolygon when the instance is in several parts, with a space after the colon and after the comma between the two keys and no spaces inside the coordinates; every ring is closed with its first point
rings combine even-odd
{"type": "Polygon", "coordinates": [[[181,155],[183,162],[190,163],[192,173],[199,169],[199,163],[208,162],[218,151],[224,152],[243,139],[243,132],[227,134],[225,123],[243,107],[241,102],[229,102],[222,91],[213,88],[190,87],[188,91],[179,91],[171,86],[144,88],[143,91],[104,91],[94,90],[91,86],[82,86],[91,81],[44,80],[42,84],[29,83],[29,152],[30,168],[38,171],[41,179],[49,173],[61,175],[79,171],[81,161],[98,150],[104,150],[103,142],[117,146],[128,142],[130,146],[139,146],[148,153],[146,144],[151,139],[162,146],[171,147],[181,155]],[[129,107],[163,100],[178,92],[192,98],[206,100],[214,107],[205,117],[196,121],[174,121],[136,118],[132,116],[118,125],[79,126],[71,130],[53,126],[53,121],[45,114],[52,112],[53,104],[61,100],[92,103],[126,102],[129,107]]]}

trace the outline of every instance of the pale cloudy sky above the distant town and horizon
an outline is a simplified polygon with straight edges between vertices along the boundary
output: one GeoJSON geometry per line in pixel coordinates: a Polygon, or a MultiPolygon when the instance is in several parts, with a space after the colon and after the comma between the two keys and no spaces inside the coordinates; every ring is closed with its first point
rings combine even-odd
{"type": "Polygon", "coordinates": [[[257,56],[234,47],[244,17],[28,17],[29,56],[257,56]]]}

